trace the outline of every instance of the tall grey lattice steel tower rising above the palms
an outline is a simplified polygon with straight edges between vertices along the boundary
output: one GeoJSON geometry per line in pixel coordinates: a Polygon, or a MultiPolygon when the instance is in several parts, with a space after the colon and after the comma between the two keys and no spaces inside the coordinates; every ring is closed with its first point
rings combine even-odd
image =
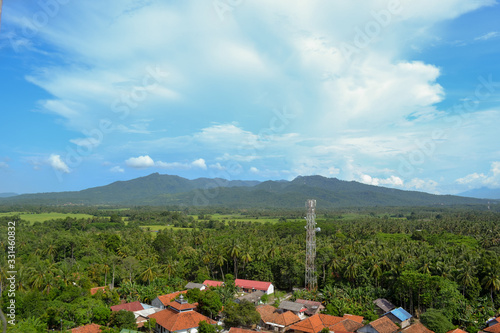
{"type": "Polygon", "coordinates": [[[318,286],[316,277],[316,200],[307,200],[306,225],[306,289],[315,290],[318,286]]]}

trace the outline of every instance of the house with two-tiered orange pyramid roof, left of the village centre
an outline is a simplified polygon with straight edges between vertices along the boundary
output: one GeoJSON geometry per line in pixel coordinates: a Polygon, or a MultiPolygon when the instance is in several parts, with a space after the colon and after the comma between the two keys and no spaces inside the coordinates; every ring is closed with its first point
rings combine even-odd
{"type": "Polygon", "coordinates": [[[211,325],[216,322],[194,311],[195,305],[189,304],[182,294],[167,304],[165,310],[156,312],[149,318],[156,319],[156,333],[197,333],[200,321],[211,325]]]}

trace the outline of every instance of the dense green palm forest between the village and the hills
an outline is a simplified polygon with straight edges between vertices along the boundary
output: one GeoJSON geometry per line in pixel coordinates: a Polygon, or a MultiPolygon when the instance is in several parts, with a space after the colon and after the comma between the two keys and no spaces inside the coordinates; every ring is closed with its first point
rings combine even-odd
{"type": "MultiPolygon", "coordinates": [[[[33,211],[48,208],[31,207],[33,211]]],[[[56,208],[51,208],[52,210],[56,208]]],[[[220,209],[136,207],[31,224],[1,217],[2,290],[7,285],[7,222],[16,221],[18,328],[40,332],[89,322],[108,324],[121,299],[151,302],[188,281],[272,281],[294,297],[324,302],[332,315],[375,319],[385,297],[414,316],[439,309],[477,332],[500,309],[500,213],[465,208],[378,208],[321,212],[316,291],[304,286],[305,221],[301,211],[244,211],[254,222],[212,218],[220,209]],[[108,214],[108,217],[105,215],[108,214]],[[193,217],[196,215],[196,218],[193,217]],[[255,218],[279,217],[276,223],[255,218]],[[159,232],[144,226],[170,225],[159,232]],[[95,286],[112,292],[90,296],[95,286]]],[[[7,292],[2,293],[6,312],[7,292]]]]}

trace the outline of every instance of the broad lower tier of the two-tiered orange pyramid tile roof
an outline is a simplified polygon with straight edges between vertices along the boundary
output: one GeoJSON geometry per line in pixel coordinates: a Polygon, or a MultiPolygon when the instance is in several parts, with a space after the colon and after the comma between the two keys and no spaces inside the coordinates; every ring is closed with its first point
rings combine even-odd
{"type": "Polygon", "coordinates": [[[155,318],[156,323],[170,332],[188,330],[198,327],[200,321],[209,324],[216,324],[212,319],[205,317],[196,311],[176,312],[172,309],[165,309],[153,313],[149,318],[155,318]]]}

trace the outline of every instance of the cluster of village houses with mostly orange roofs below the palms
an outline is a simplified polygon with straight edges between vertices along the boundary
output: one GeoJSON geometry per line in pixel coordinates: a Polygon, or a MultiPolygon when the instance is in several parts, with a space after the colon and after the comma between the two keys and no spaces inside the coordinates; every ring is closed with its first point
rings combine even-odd
{"type": "MultiPolygon", "coordinates": [[[[200,321],[209,324],[221,324],[196,311],[197,304],[190,304],[184,297],[189,289],[198,288],[205,290],[210,287],[223,285],[221,281],[206,280],[203,283],[188,283],[186,290],[156,297],[151,305],[132,302],[114,305],[112,311],[127,310],[134,313],[137,327],[154,318],[156,320],[156,333],[197,333],[200,321]]],[[[256,305],[256,310],[261,316],[260,324],[256,330],[270,332],[297,332],[319,333],[328,330],[335,333],[434,333],[423,324],[416,321],[411,323],[412,315],[401,307],[396,307],[386,299],[374,301],[379,318],[366,322],[363,317],[344,314],[342,317],[321,313],[324,306],[320,302],[297,299],[294,302],[282,301],[276,308],[268,304],[261,304],[260,299],[264,294],[274,293],[274,286],[270,282],[235,280],[236,287],[243,295],[235,301],[250,301],[256,305]]],[[[99,325],[90,324],[77,327],[72,333],[98,333],[99,325]]],[[[122,333],[133,332],[123,330],[122,333]]],[[[226,330],[227,332],[227,330],[226,330]]],[[[255,333],[254,330],[230,328],[229,333],[255,333]]],[[[448,333],[467,333],[455,329],[448,333]]],[[[500,333],[500,317],[493,318],[487,327],[479,333],[500,333]]]]}

